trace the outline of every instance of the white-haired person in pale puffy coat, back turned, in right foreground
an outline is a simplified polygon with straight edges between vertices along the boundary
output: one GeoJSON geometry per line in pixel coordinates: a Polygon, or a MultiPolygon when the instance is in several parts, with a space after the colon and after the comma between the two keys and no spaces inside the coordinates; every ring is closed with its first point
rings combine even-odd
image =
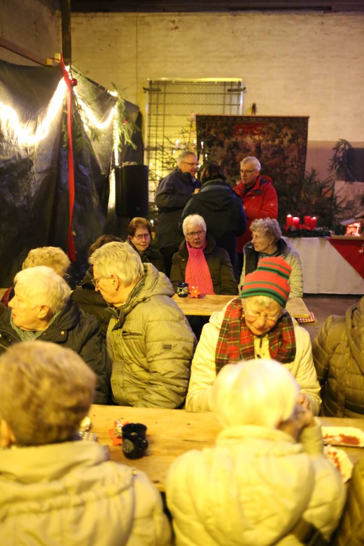
{"type": "Polygon", "coordinates": [[[299,393],[274,360],[224,366],[212,391],[216,445],[178,457],[166,480],[176,546],[328,543],[345,487],[299,393]]]}

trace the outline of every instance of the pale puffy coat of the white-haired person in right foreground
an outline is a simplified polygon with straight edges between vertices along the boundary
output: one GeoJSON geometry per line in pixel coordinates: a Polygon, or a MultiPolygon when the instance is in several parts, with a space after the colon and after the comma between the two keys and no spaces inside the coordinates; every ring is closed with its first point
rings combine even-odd
{"type": "Polygon", "coordinates": [[[293,546],[301,544],[290,532],[301,518],[329,539],[344,485],[322,455],[319,426],[301,441],[306,452],[285,432],[234,426],[216,447],[178,457],[166,480],[176,546],[293,546]]]}

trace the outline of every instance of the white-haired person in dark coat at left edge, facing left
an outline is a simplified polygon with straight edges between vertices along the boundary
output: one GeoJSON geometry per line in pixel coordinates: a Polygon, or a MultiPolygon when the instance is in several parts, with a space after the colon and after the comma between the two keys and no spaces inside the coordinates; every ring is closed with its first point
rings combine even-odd
{"type": "Polygon", "coordinates": [[[108,403],[111,363],[99,322],[70,300],[67,282],[45,265],[19,271],[14,284],[14,298],[0,316],[0,352],[29,340],[69,347],[97,375],[95,402],[108,403]]]}

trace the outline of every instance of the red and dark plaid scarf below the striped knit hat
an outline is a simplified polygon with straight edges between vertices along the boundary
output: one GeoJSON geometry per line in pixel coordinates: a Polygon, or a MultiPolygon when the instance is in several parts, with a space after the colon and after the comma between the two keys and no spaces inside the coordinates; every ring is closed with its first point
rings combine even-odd
{"type": "MultiPolygon", "coordinates": [[[[292,317],[285,311],[277,324],[267,334],[269,354],[281,364],[288,364],[296,357],[296,338],[292,317]]],[[[225,364],[254,358],[254,335],[243,316],[241,299],[235,298],[226,307],[217,340],[215,366],[218,373],[225,364]]]]}

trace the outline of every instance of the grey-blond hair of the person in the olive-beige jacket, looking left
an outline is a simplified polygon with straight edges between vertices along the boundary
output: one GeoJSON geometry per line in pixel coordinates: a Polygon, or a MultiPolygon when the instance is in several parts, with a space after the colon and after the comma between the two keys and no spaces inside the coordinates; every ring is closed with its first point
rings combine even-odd
{"type": "Polygon", "coordinates": [[[114,274],[125,287],[140,281],[145,275],[138,252],[128,242],[108,242],[98,248],[88,261],[97,267],[100,277],[114,274]]]}

